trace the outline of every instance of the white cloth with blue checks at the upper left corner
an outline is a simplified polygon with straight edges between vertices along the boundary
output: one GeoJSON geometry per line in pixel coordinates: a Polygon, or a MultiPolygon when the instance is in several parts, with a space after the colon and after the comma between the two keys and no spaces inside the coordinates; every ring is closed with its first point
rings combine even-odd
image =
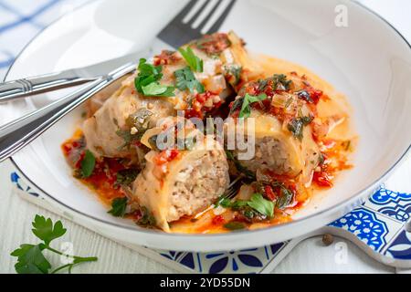
{"type": "Polygon", "coordinates": [[[0,0],[0,80],[42,29],[89,0],[0,0]]]}

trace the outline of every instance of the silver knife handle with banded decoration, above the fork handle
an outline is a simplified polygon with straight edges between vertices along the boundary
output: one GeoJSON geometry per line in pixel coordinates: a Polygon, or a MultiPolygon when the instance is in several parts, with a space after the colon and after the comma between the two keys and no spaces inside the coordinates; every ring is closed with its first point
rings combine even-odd
{"type": "Polygon", "coordinates": [[[79,78],[67,72],[59,72],[0,83],[0,103],[50,90],[80,85],[94,79],[96,78],[79,78]]]}

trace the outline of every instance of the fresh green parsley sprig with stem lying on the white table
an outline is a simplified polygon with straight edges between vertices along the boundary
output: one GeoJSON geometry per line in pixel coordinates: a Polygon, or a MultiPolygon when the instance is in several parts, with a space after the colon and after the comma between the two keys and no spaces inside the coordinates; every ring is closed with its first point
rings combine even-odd
{"type": "Polygon", "coordinates": [[[79,265],[80,263],[97,261],[98,258],[96,256],[82,257],[77,255],[66,255],[50,246],[50,243],[53,240],[66,234],[67,229],[63,227],[61,221],[53,224],[50,218],[46,219],[44,216],[37,214],[32,224],[34,227],[32,229],[33,234],[41,239],[43,243],[38,245],[20,245],[19,248],[10,254],[17,257],[15,268],[18,274],[55,274],[66,268],[68,269],[68,273],[70,273],[73,266],[79,265]],[[72,262],[51,270],[52,266],[43,254],[45,250],[58,255],[67,256],[72,262]]]}

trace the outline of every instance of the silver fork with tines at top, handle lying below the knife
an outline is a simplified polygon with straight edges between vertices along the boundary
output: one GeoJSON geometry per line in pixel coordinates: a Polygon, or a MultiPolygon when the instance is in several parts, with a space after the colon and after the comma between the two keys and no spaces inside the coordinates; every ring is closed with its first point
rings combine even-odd
{"type": "MultiPolygon", "coordinates": [[[[176,16],[174,20],[170,23],[170,27],[174,27],[173,29],[176,34],[174,35],[174,37],[171,34],[171,28],[169,29],[168,33],[164,32],[164,30],[167,29],[165,28],[160,33],[159,38],[161,38],[164,42],[171,42],[172,39],[178,39],[178,41],[174,41],[174,44],[172,44],[172,46],[179,47],[180,45],[185,44],[187,39],[190,40],[190,37],[195,38],[201,36],[201,30],[204,27],[204,21],[200,26],[193,30],[188,29],[187,26],[187,32],[184,32],[184,30],[179,30],[177,33],[176,28],[177,26],[180,26],[179,24],[184,23],[184,17],[186,16],[186,13],[194,7],[196,2],[197,0],[190,1],[189,4],[184,7],[183,11],[178,16],[176,16]]],[[[216,5],[214,5],[212,11],[216,11],[216,8],[222,2],[223,1],[218,0],[216,5]]],[[[218,29],[218,27],[221,26],[229,10],[235,2],[236,0],[231,0],[229,5],[224,10],[223,14],[217,18],[216,23],[214,23],[213,26],[210,28],[209,32],[212,32],[212,29],[218,29]]],[[[205,4],[208,4],[208,2],[206,1],[205,4]]],[[[205,5],[203,5],[203,7],[199,11],[202,11],[204,7],[205,5]]],[[[192,19],[195,19],[196,16],[199,16],[198,12],[192,19]]],[[[190,24],[191,23],[192,22],[190,22],[190,24]]],[[[186,25],[182,25],[181,27],[183,26],[185,27],[186,25]]],[[[135,68],[134,62],[128,63],[122,66],[121,68],[117,68],[108,75],[106,75],[106,72],[101,72],[101,76],[95,77],[94,81],[86,85],[84,88],[78,89],[77,91],[69,94],[63,99],[59,99],[47,105],[43,109],[36,110],[18,120],[14,120],[0,127],[0,162],[12,156],[14,153],[16,153],[16,151],[19,151],[28,143],[35,140],[45,130],[47,130],[52,125],[54,125],[58,120],[66,116],[68,112],[76,109],[82,102],[86,101],[87,99],[90,99],[91,96],[93,96],[101,89],[104,89],[105,87],[110,85],[114,80],[121,78],[122,76],[132,72],[133,68],[135,68]]],[[[67,74],[67,72],[63,73],[67,74]]],[[[44,76],[42,78],[44,78],[44,76]]],[[[31,82],[28,79],[26,79],[26,81],[31,82]]],[[[50,80],[48,80],[48,82],[50,82],[50,80]]],[[[56,85],[56,83],[58,82],[55,82],[54,85],[56,85]]],[[[54,85],[51,84],[48,88],[55,89],[56,87],[54,85]]],[[[45,88],[42,89],[43,91],[45,90],[45,88]]],[[[27,93],[25,89],[22,89],[22,91],[22,93],[27,93]]],[[[28,92],[28,94],[31,95],[35,92],[36,90],[32,90],[28,92]]],[[[21,94],[17,96],[21,96],[21,94]]]]}

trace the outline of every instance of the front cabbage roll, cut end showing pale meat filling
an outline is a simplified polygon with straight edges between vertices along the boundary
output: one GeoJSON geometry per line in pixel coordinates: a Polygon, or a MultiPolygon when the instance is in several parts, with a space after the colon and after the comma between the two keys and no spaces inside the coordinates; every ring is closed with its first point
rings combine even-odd
{"type": "Polygon", "coordinates": [[[153,150],[133,183],[137,202],[153,214],[158,227],[169,232],[169,223],[194,215],[214,203],[229,184],[228,163],[222,146],[213,137],[185,125],[184,150],[160,151],[158,134],[172,128],[147,131],[142,142],[153,150]]]}

